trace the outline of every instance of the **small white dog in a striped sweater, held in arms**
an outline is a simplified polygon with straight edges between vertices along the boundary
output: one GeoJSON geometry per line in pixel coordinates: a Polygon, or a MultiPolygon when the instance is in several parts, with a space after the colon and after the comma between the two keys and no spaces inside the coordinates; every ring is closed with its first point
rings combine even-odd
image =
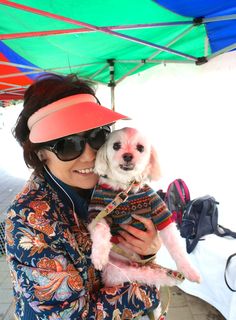
{"type": "MultiPolygon", "coordinates": [[[[171,272],[154,263],[141,265],[130,262],[135,261],[135,254],[127,252],[127,249],[125,256],[112,250],[111,240],[116,242],[120,224],[132,223],[136,227],[140,226],[140,222],[132,214],[140,214],[153,220],[178,271],[188,280],[199,282],[198,272],[191,266],[180,245],[180,235],[175,223],[171,222],[170,212],[157,193],[147,185],[148,181],[157,180],[160,175],[155,150],[148,140],[133,128],[113,131],[97,153],[95,170],[100,179],[91,199],[91,219],[114,199],[118,191],[126,190],[135,181],[126,201],[98,223],[92,220],[89,224],[93,242],[91,259],[95,268],[102,270],[104,283],[112,286],[138,281],[159,287],[173,286],[183,281],[184,277],[181,278],[180,273],[171,272]]],[[[118,246],[121,250],[124,249],[120,244],[118,246]]]]}

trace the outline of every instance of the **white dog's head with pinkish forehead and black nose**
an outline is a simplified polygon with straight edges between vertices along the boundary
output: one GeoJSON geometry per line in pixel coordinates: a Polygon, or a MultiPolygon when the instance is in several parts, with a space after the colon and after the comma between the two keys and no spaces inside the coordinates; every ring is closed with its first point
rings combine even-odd
{"type": "Polygon", "coordinates": [[[117,181],[141,181],[149,175],[154,178],[152,170],[159,176],[156,154],[148,140],[134,128],[113,131],[97,153],[98,174],[117,181]]]}

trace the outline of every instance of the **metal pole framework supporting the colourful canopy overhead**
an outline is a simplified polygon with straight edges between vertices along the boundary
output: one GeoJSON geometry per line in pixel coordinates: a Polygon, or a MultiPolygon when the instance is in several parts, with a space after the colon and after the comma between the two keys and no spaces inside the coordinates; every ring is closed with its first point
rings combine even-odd
{"type": "MultiPolygon", "coordinates": [[[[0,35],[0,40],[10,40],[10,39],[17,39],[17,38],[27,38],[27,37],[44,37],[44,36],[57,36],[60,34],[73,34],[73,33],[88,33],[88,32],[102,32],[105,34],[112,35],[114,37],[122,38],[130,42],[135,42],[139,43],[144,46],[152,47],[154,49],[157,49],[155,53],[153,53],[150,57],[142,59],[142,60],[128,60],[129,63],[133,63],[134,66],[125,74],[123,75],[120,79],[115,81],[115,65],[116,63],[126,63],[127,60],[115,60],[111,57],[111,59],[105,60],[101,64],[101,67],[96,71],[94,74],[88,76],[89,79],[93,80],[96,75],[100,74],[103,72],[105,69],[108,69],[109,75],[110,75],[110,81],[107,84],[111,88],[111,106],[112,109],[115,109],[115,86],[120,83],[122,80],[124,80],[127,76],[132,74],[134,71],[138,70],[141,68],[144,64],[167,64],[167,63],[195,63],[196,65],[200,65],[203,63],[206,63],[210,59],[216,57],[219,54],[222,54],[224,52],[227,52],[229,50],[235,49],[236,44],[233,44],[231,46],[228,46],[227,48],[224,48],[222,50],[219,50],[218,52],[215,52],[214,54],[211,54],[207,56],[208,52],[208,39],[205,40],[205,57],[195,57],[189,54],[186,54],[184,52],[180,52],[178,50],[171,49],[171,46],[176,43],[178,40],[182,39],[185,37],[194,27],[197,27],[200,24],[206,24],[206,23],[211,23],[211,22],[216,22],[216,21],[227,21],[227,20],[236,20],[236,14],[233,15],[228,15],[228,16],[218,16],[218,17],[213,17],[213,18],[195,18],[193,20],[187,20],[187,21],[173,21],[173,22],[161,22],[161,23],[151,23],[151,24],[134,24],[134,25],[119,25],[119,26],[103,26],[103,27],[98,27],[92,24],[88,24],[85,22],[81,22],[75,19],[71,19],[68,17],[64,17],[62,15],[57,15],[51,12],[39,10],[36,8],[32,8],[26,5],[18,4],[12,1],[7,1],[7,0],[0,0],[0,4],[16,8],[18,10],[23,10],[26,12],[31,12],[33,14],[37,14],[40,16],[48,17],[51,19],[67,22],[69,24],[72,24],[73,26],[78,26],[79,28],[70,28],[66,30],[42,30],[42,31],[37,31],[37,32],[19,32],[19,33],[12,33],[12,34],[1,34],[0,35]],[[145,41],[136,37],[128,36],[125,35],[121,32],[122,30],[130,30],[130,29],[140,29],[140,28],[157,28],[157,27],[168,27],[168,26],[175,26],[175,25],[189,25],[189,28],[187,28],[184,32],[182,32],[179,36],[175,37],[172,39],[170,42],[168,42],[165,46],[163,45],[158,45],[156,43],[152,43],[149,41],[145,41]],[[186,60],[162,60],[162,59],[156,59],[156,57],[161,53],[161,52],[168,52],[172,55],[177,55],[179,57],[183,57],[186,60]]],[[[91,64],[80,64],[80,65],[70,65],[70,69],[73,70],[74,68],[83,68],[85,66],[89,65],[94,65],[95,63],[91,64]]],[[[42,69],[34,66],[28,66],[28,65],[23,65],[23,64],[16,64],[16,63],[8,63],[5,61],[0,61],[0,65],[8,65],[8,66],[14,66],[18,68],[24,68],[29,71],[21,72],[21,73],[9,73],[6,75],[1,75],[1,79],[9,79],[11,77],[20,77],[23,75],[30,75],[30,74],[38,74],[38,73],[47,73],[47,72],[55,72],[55,73],[60,73],[62,70],[68,69],[68,66],[60,66],[57,68],[50,68],[50,69],[42,69]]],[[[98,82],[99,83],[99,82],[98,82]]],[[[17,93],[17,89],[25,88],[25,86],[18,86],[13,83],[5,83],[5,82],[0,82],[0,84],[4,84],[9,86],[10,88],[0,90],[0,93],[10,93],[14,92],[17,93]]],[[[104,84],[104,83],[103,83],[104,84]]]]}

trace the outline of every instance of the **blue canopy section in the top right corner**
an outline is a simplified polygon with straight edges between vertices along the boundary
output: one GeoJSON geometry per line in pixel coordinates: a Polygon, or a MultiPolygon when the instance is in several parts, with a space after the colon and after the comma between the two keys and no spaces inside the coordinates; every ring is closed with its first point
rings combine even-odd
{"type": "MultiPolygon", "coordinates": [[[[192,18],[229,17],[236,14],[235,0],[153,1],[177,14],[192,18]]],[[[205,27],[212,53],[236,44],[236,17],[232,20],[205,22],[205,27]]]]}

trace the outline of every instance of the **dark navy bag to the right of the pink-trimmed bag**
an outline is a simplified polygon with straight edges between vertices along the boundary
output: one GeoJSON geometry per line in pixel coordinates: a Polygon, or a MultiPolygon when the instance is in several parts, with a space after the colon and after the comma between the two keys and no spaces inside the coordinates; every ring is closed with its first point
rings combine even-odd
{"type": "Polygon", "coordinates": [[[231,236],[236,238],[236,232],[218,224],[219,204],[214,197],[206,195],[190,201],[183,213],[180,234],[186,238],[186,249],[191,253],[199,240],[208,234],[216,234],[220,237],[231,236]]]}

